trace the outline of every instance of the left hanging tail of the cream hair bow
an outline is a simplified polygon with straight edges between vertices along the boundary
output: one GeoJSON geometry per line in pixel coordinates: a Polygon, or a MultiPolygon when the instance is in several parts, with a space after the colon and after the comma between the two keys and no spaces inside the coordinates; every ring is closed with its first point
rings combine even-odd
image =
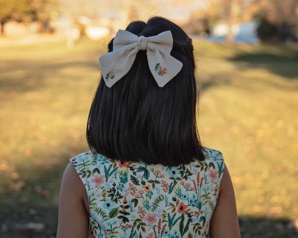
{"type": "Polygon", "coordinates": [[[138,51],[134,45],[128,45],[99,57],[101,73],[109,88],[127,74],[138,51]]]}

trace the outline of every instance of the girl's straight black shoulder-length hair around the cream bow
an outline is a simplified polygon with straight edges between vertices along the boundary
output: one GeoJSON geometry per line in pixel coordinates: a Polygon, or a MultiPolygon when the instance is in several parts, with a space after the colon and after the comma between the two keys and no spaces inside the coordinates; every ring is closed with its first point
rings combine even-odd
{"type": "MultiPolygon", "coordinates": [[[[139,51],[129,72],[113,87],[101,75],[91,104],[86,137],[91,151],[120,162],[179,166],[205,160],[197,123],[197,84],[192,39],[175,23],[154,16],[133,21],[127,31],[155,36],[170,30],[171,56],[181,71],[159,87],[149,70],[145,51],[139,51]]],[[[113,40],[108,52],[113,51],[113,40]]]]}

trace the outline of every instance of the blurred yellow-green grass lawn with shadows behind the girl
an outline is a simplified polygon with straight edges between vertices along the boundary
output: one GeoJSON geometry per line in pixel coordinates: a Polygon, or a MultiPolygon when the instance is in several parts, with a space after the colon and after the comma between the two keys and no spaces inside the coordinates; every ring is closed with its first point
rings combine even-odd
{"type": "MultiPolygon", "coordinates": [[[[88,150],[106,44],[0,47],[0,237],[55,237],[64,169],[88,150]]],[[[194,44],[199,131],[224,155],[242,238],[298,237],[298,46],[194,44]]]]}

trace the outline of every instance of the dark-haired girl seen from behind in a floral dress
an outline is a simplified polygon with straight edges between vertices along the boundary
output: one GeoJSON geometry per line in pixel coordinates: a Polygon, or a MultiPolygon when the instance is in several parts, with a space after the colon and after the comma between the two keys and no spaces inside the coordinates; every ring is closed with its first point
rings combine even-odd
{"type": "Polygon", "coordinates": [[[223,154],[201,144],[192,40],[151,17],[100,57],[90,150],[70,159],[57,238],[239,238],[223,154]]]}

